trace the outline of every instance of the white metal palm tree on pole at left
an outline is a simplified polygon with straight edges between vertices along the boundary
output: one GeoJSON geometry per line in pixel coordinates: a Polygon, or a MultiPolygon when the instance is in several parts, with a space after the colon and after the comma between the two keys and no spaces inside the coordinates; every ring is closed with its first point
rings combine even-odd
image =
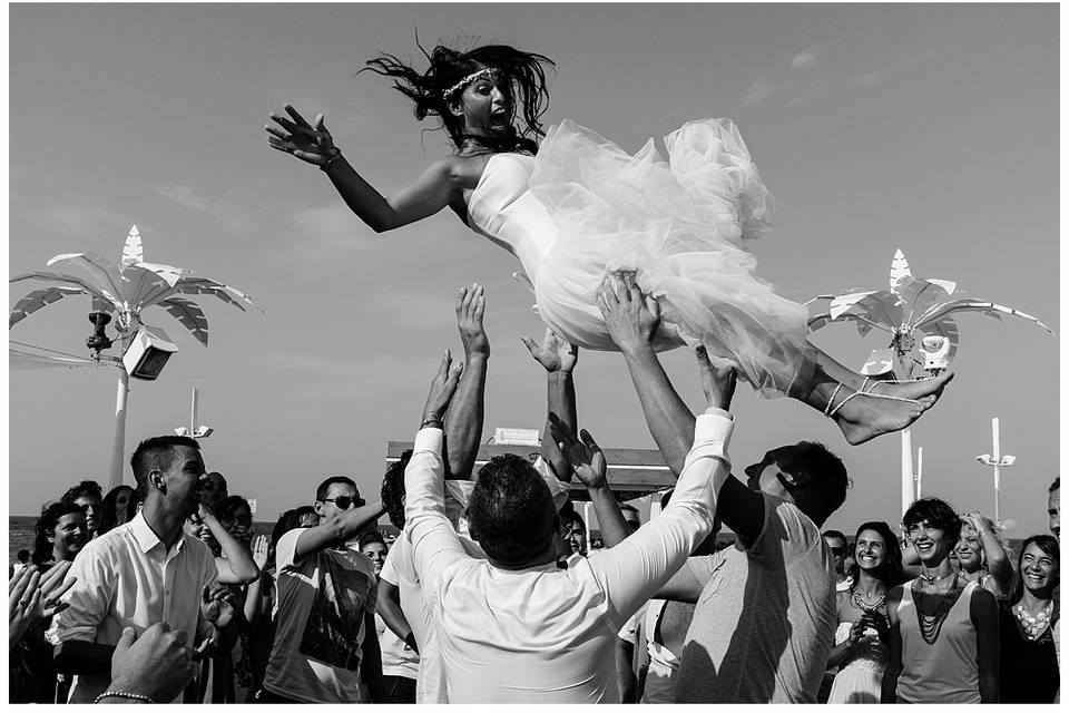
{"type": "MultiPolygon", "coordinates": [[[[10,280],[11,283],[35,280],[50,283],[19,300],[8,319],[8,329],[49,304],[71,295],[89,295],[92,301],[90,319],[97,333],[87,345],[95,350],[98,361],[108,360],[119,367],[119,387],[116,402],[116,434],[111,459],[111,485],[121,481],[122,441],[126,430],[126,394],[129,390],[128,374],[119,360],[100,355],[111,345],[104,335],[104,326],[112,321],[118,340],[124,348],[144,326],[141,312],[149,306],[160,306],[177,319],[205,346],[208,344],[208,320],[194,301],[179,295],[213,295],[243,312],[247,306],[259,307],[253,300],[223,283],[207,277],[193,276],[192,270],[145,262],[141,238],[137,226],[130,228],[122,248],[122,260],[116,265],[94,253],[56,255],[48,261],[53,265],[73,265],[86,273],[78,276],[65,272],[29,272],[10,280]]],[[[263,312],[263,310],[261,310],[263,312]]],[[[158,333],[158,332],[157,332],[158,333]]]]}

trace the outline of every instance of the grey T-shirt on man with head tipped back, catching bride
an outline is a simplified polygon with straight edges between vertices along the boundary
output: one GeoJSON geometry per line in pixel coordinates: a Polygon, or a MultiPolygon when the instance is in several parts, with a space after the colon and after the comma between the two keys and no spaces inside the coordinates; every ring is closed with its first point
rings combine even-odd
{"type": "Polygon", "coordinates": [[[679,703],[813,703],[835,631],[835,569],[816,525],[764,495],[764,529],[689,566],[705,588],[679,666],[679,703]]]}

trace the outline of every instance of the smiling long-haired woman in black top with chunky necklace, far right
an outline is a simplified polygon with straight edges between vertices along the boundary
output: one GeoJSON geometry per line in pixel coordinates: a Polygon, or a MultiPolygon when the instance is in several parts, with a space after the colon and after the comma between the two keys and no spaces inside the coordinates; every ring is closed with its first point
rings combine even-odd
{"type": "Polygon", "coordinates": [[[1053,703],[1058,694],[1055,624],[1060,617],[1055,588],[1061,569],[1058,540],[1033,535],[1021,546],[1017,586],[999,611],[1002,703],[1053,703]]]}

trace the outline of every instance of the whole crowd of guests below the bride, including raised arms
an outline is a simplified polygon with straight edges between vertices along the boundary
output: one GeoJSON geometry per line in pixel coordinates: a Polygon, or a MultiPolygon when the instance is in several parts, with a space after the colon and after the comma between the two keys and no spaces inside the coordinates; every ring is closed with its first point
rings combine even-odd
{"type": "Polygon", "coordinates": [[[135,486],[87,480],[47,504],[11,568],[10,701],[1057,700],[1058,479],[1051,534],[1017,553],[998,524],[933,497],[901,524],[822,531],[847,498],[843,462],[769,443],[733,468],[734,369],[695,351],[706,409],[692,413],[649,305],[628,274],[599,294],[677,479],[647,521],[578,428],[579,350],[551,331],[524,340],[547,383],[540,457],[474,467],[490,341],[473,285],[455,304],[463,359],[447,351],[413,404],[413,448],[379,500],[331,475],[253,537],[248,501],[198,442],[160,436],[134,451],[135,486]]]}

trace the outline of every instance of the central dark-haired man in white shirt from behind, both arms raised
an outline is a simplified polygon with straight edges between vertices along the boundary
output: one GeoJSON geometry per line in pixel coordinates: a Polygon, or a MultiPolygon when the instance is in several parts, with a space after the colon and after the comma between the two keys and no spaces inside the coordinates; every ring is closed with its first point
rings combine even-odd
{"type": "MultiPolygon", "coordinates": [[[[405,528],[441,648],[450,703],[619,701],[614,646],[627,619],[686,561],[713,528],[729,471],[732,369],[703,371],[708,410],[661,517],[612,549],[557,567],[557,514],[524,459],[494,458],[479,471],[468,518],[488,559],[471,557],[445,515],[441,417],[459,369],[447,352],[431,387],[405,471],[405,528]]],[[[590,438],[555,429],[583,482],[605,477],[590,438]]]]}

